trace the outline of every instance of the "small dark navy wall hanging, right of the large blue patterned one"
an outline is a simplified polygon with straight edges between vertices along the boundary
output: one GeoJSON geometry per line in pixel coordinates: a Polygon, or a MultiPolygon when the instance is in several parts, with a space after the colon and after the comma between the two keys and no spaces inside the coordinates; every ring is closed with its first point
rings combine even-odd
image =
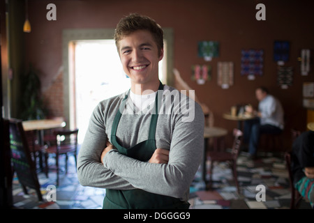
{"type": "Polygon", "coordinates": [[[278,41],[274,42],[274,61],[278,63],[279,66],[283,66],[285,62],[289,61],[290,54],[290,43],[288,41],[278,41]]]}

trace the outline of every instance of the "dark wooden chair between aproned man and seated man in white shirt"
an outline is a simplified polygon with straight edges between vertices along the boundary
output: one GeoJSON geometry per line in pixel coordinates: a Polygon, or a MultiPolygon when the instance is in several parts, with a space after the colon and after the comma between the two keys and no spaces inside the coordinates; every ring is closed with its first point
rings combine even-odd
{"type": "Polygon", "coordinates": [[[233,130],[233,135],[234,135],[234,141],[232,145],[232,150],[231,152],[227,151],[209,151],[207,155],[207,160],[211,161],[210,164],[210,169],[209,169],[209,188],[211,188],[212,184],[212,175],[213,175],[213,169],[214,169],[214,163],[215,162],[227,162],[230,164],[230,167],[232,169],[233,177],[234,177],[234,182],[237,186],[237,192],[240,194],[239,190],[239,183],[238,183],[238,178],[237,178],[237,158],[240,153],[240,146],[241,146],[241,141],[243,137],[243,132],[237,128],[234,128],[233,130]]]}

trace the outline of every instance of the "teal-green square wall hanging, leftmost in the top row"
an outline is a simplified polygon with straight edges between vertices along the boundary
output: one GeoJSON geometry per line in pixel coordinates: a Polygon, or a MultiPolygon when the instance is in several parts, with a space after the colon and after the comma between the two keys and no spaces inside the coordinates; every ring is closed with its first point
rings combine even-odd
{"type": "Polygon", "coordinates": [[[205,61],[211,61],[213,57],[218,57],[219,43],[216,41],[198,42],[198,56],[203,57],[205,61]]]}

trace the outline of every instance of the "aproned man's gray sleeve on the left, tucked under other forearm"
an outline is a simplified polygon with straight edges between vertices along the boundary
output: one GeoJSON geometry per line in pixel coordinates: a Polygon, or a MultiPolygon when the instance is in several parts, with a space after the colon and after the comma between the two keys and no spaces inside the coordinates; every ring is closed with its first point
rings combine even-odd
{"type": "Polygon", "coordinates": [[[89,127],[77,157],[77,177],[80,184],[89,187],[129,190],[135,189],[128,181],[114,174],[100,162],[100,156],[106,147],[102,106],[94,109],[89,127]]]}

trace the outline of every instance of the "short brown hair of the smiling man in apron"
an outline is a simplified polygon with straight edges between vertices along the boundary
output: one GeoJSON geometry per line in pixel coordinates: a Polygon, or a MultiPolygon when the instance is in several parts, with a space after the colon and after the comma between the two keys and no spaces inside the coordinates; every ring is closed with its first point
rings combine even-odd
{"type": "Polygon", "coordinates": [[[151,32],[160,55],[161,49],[163,49],[163,29],[161,29],[160,25],[158,25],[155,20],[137,13],[132,13],[122,18],[117,24],[117,28],[114,31],[114,40],[117,49],[119,49],[119,40],[121,40],[121,38],[137,30],[147,30],[151,32]]]}

